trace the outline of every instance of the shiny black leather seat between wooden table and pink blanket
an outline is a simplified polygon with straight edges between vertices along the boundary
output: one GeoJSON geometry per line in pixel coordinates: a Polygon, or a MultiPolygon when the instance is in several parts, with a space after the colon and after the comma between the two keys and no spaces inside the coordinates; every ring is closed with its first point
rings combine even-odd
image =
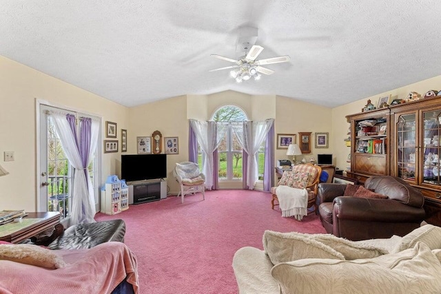
{"type": "Polygon", "coordinates": [[[124,242],[125,222],[105,220],[90,224],[76,224],[66,229],[49,249],[89,249],[104,242],[124,242]]]}

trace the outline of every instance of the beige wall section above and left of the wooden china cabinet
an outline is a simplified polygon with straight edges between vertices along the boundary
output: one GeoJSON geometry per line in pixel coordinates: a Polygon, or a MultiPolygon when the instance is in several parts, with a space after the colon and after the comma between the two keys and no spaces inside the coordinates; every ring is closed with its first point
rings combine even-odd
{"type": "Polygon", "coordinates": [[[345,169],[345,167],[350,165],[346,162],[347,156],[350,153],[350,149],[349,147],[345,147],[345,142],[343,141],[348,136],[347,129],[349,128],[349,123],[347,123],[345,116],[361,112],[361,109],[367,104],[368,99],[371,99],[371,103],[373,103],[373,105],[377,105],[378,99],[380,97],[391,95],[393,98],[404,99],[409,94],[409,92],[418,92],[422,96],[424,96],[424,94],[429,90],[441,90],[441,76],[428,78],[427,80],[420,81],[418,83],[413,83],[404,87],[399,87],[387,92],[379,93],[374,96],[362,98],[353,103],[349,103],[347,105],[342,105],[340,107],[335,107],[334,109],[332,109],[333,138],[331,138],[331,141],[334,146],[335,156],[337,158],[337,167],[340,167],[340,169],[345,169]]]}

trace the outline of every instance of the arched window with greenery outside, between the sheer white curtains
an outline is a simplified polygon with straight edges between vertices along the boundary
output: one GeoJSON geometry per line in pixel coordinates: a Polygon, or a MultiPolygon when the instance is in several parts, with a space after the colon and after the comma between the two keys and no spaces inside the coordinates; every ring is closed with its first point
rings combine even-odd
{"type": "Polygon", "coordinates": [[[212,120],[227,125],[227,134],[218,147],[219,180],[242,180],[242,147],[233,127],[241,132],[243,121],[247,119],[247,114],[235,105],[219,107],[212,116],[212,120]]]}

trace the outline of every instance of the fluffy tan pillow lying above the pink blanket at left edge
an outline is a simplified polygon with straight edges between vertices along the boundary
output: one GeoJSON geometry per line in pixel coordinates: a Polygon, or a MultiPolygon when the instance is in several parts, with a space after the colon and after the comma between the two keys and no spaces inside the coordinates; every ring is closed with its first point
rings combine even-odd
{"type": "Polygon", "coordinates": [[[46,269],[59,269],[65,266],[63,259],[54,251],[31,244],[0,245],[0,260],[10,260],[46,269]]]}

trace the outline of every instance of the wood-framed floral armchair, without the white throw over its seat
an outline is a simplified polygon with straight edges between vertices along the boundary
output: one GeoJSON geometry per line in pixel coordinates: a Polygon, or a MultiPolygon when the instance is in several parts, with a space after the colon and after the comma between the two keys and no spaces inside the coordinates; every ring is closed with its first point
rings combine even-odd
{"type": "MultiPolygon", "coordinates": [[[[309,209],[310,207],[314,207],[314,211],[317,211],[316,198],[317,198],[318,182],[321,171],[322,171],[321,167],[319,167],[318,165],[311,165],[310,163],[307,163],[305,165],[294,165],[292,171],[285,171],[283,173],[283,176],[282,178],[280,178],[278,185],[301,189],[303,187],[302,183],[300,183],[300,185],[298,184],[302,180],[306,179],[304,188],[307,189],[307,193],[308,193],[307,209],[309,209]]],[[[277,196],[278,193],[277,191],[278,191],[277,187],[271,188],[272,209],[274,209],[274,206],[279,205],[280,203],[277,196]]]]}

